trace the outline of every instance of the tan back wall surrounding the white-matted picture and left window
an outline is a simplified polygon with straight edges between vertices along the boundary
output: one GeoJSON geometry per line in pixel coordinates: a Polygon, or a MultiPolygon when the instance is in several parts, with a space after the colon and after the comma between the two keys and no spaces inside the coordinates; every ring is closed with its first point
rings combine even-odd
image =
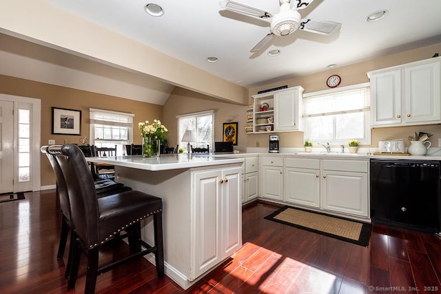
{"type": "MultiPolygon", "coordinates": [[[[137,123],[144,120],[162,120],[163,106],[80,91],[65,87],[33,82],[0,75],[0,92],[41,100],[41,145],[54,139],[56,144],[78,144],[81,137],[89,136],[89,109],[106,109],[134,113],[134,144],[141,144],[137,123]],[[81,136],[52,135],[52,106],[81,110],[81,136]]],[[[54,185],[54,173],[48,159],[41,155],[41,185],[54,185]]]]}

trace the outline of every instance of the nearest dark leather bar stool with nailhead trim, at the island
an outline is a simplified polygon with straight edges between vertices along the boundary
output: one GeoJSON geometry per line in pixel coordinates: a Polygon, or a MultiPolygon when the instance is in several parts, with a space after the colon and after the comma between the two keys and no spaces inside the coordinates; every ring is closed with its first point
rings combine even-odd
{"type": "Polygon", "coordinates": [[[63,171],[70,216],[75,234],[68,289],[73,289],[79,270],[81,251],[88,257],[85,293],[94,293],[97,275],[113,269],[121,262],[154,253],[156,273],[164,275],[162,199],[139,191],[127,191],[97,198],[88,163],[78,146],[49,146],[48,152],[57,158],[63,171]],[[141,220],[153,216],[153,246],[141,240],[141,220]],[[99,267],[99,248],[119,234],[127,232],[131,256],[99,267]],[[141,248],[144,247],[144,249],[141,248]]]}

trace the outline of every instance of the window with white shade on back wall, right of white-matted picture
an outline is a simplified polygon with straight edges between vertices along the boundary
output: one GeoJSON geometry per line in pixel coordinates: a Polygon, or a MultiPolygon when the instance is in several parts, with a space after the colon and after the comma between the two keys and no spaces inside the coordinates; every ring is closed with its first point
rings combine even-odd
{"type": "Polygon", "coordinates": [[[133,142],[133,117],[132,113],[90,109],[90,144],[116,145],[116,155],[123,155],[123,146],[133,142]]]}

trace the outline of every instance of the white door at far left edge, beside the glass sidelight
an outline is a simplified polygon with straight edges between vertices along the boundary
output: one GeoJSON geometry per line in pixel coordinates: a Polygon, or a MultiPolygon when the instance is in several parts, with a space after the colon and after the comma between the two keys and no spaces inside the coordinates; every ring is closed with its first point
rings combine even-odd
{"type": "Polygon", "coordinates": [[[0,193],[14,192],[14,102],[0,100],[0,193]]]}

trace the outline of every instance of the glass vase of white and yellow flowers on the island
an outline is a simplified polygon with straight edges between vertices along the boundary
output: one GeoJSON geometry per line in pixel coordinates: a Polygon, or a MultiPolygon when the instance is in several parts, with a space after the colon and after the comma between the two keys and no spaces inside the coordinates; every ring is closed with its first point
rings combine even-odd
{"type": "Polygon", "coordinates": [[[138,127],[143,137],[143,157],[159,156],[161,142],[165,141],[165,135],[168,133],[167,128],[160,120],[153,120],[152,124],[148,120],[139,122],[138,127]]]}

